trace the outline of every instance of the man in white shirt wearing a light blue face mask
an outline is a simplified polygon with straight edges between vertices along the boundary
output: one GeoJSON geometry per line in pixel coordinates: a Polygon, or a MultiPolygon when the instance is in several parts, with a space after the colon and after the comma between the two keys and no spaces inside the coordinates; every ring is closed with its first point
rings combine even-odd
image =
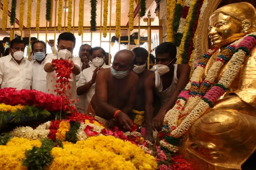
{"type": "Polygon", "coordinates": [[[44,71],[46,44],[36,40],[32,43],[31,48],[35,57],[32,61],[32,89],[46,93],[46,72],[44,71]]]}

